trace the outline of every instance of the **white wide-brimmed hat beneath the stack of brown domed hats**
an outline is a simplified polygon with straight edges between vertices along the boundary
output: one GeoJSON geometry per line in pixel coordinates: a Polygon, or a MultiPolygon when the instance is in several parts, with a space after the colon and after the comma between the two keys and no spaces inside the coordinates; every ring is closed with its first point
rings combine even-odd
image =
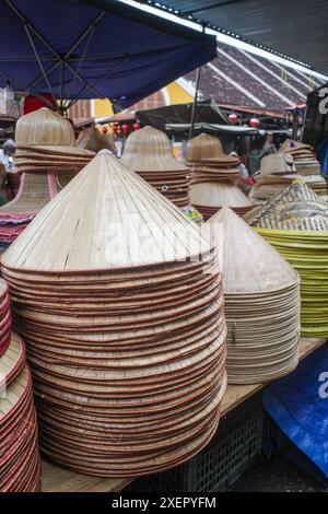
{"type": "Polygon", "coordinates": [[[200,183],[191,186],[191,203],[208,207],[251,207],[246,195],[230,182],[200,183]]]}

